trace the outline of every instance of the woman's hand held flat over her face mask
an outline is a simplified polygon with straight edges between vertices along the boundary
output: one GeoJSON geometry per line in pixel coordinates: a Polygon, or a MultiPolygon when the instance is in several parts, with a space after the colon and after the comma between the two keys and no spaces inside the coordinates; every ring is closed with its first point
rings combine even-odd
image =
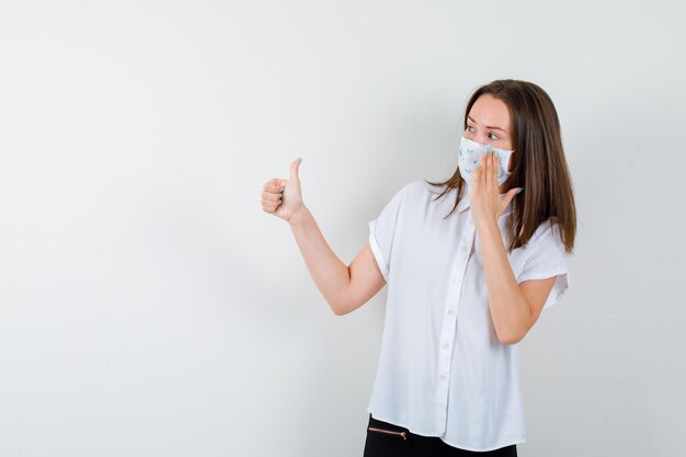
{"type": "Polygon", "coordinates": [[[498,186],[499,161],[495,153],[489,147],[485,157],[481,156],[471,174],[469,205],[471,206],[471,218],[477,228],[492,222],[498,225],[500,216],[510,205],[512,198],[522,190],[522,187],[514,187],[501,198],[498,186]]]}

